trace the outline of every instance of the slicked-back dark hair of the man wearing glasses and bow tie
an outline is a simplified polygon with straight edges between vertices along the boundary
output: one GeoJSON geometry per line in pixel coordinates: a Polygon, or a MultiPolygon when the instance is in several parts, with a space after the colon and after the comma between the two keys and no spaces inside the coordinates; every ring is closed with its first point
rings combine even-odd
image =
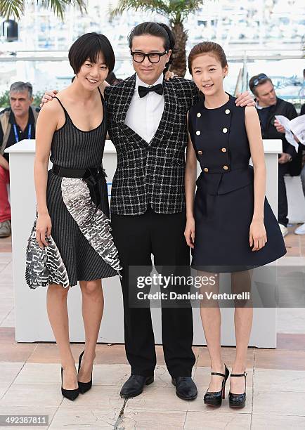
{"type": "MultiPolygon", "coordinates": [[[[163,22],[142,22],[141,24],[136,25],[133,30],[129,33],[128,36],[128,44],[129,48],[131,50],[132,47],[132,41],[134,37],[136,36],[143,36],[144,34],[149,34],[150,36],[156,36],[161,37],[164,41],[164,50],[169,51],[171,50],[173,53],[175,48],[175,37],[174,33],[171,31],[168,25],[163,24],[163,22]]],[[[171,63],[171,60],[169,60],[169,63],[167,63],[167,67],[171,63]]]]}

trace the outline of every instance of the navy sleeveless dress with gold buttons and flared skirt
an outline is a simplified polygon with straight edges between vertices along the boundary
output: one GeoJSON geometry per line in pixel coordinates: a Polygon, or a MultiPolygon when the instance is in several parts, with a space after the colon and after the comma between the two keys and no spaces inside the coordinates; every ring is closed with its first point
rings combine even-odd
{"type": "Polygon", "coordinates": [[[202,172],[194,202],[192,267],[228,273],[264,266],[286,253],[285,242],[265,198],[266,245],[252,252],[249,227],[254,211],[254,173],[245,127],[245,107],[235,98],[216,109],[203,101],[191,107],[190,138],[202,172]]]}

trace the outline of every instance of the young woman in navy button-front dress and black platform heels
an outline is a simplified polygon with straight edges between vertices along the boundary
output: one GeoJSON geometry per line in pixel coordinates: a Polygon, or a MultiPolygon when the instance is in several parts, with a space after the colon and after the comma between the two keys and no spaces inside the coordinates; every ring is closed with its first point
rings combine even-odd
{"type": "MultiPolygon", "coordinates": [[[[278,222],[265,197],[266,167],[259,117],[255,107],[236,107],[235,98],[224,91],[228,63],[221,46],[212,42],[197,44],[188,62],[195,84],[205,96],[188,112],[185,236],[192,248],[192,267],[200,275],[231,273],[233,292],[249,291],[251,269],[286,253],[278,222]],[[250,157],[253,168],[249,166],[250,157]],[[196,182],[197,160],[202,172],[196,182]]],[[[219,281],[213,287],[213,292],[218,291],[219,281]]],[[[229,371],[221,358],[219,304],[216,301],[211,306],[207,301],[202,301],[200,313],[212,377],[204,401],[220,406],[229,371]]],[[[243,408],[253,309],[251,303],[238,306],[229,405],[243,408]]]]}

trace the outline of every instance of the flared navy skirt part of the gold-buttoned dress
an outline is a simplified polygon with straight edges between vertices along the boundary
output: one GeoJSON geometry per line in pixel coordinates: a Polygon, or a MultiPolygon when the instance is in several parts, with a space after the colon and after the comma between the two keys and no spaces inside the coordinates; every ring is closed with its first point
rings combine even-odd
{"type": "Polygon", "coordinates": [[[278,221],[265,198],[266,245],[252,252],[249,228],[254,210],[254,185],[223,195],[210,195],[199,186],[194,204],[195,246],[192,267],[228,273],[264,266],[286,254],[278,221]]]}

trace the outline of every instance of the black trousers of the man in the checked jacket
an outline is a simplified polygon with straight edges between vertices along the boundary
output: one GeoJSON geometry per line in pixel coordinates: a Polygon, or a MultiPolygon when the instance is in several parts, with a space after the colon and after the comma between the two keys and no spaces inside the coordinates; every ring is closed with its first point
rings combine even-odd
{"type": "MultiPolygon", "coordinates": [[[[140,266],[146,266],[146,274],[149,274],[151,254],[158,273],[162,272],[162,266],[189,266],[190,249],[183,236],[185,226],[185,213],[157,214],[148,208],[142,215],[112,214],[112,235],[123,267],[125,350],[131,374],[152,375],[156,353],[150,307],[135,308],[129,304],[129,292],[136,288],[130,285],[129,267],[139,266],[141,273],[140,266]]],[[[190,376],[195,356],[192,350],[193,313],[189,301],[182,307],[162,304],[162,342],[171,376],[190,376]]]]}

